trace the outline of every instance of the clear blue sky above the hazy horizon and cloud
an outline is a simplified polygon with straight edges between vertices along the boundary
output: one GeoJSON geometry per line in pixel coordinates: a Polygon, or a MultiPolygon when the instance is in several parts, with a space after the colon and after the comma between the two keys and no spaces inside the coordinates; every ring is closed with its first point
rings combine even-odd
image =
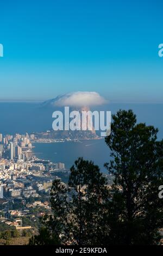
{"type": "Polygon", "coordinates": [[[163,102],[162,1],[3,1],[0,100],[163,102]]]}

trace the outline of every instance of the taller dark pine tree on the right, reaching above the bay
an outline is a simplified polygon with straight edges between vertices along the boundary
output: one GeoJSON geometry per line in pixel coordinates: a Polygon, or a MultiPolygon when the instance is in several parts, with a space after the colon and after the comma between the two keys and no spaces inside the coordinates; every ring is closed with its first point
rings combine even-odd
{"type": "Polygon", "coordinates": [[[115,175],[106,240],[158,244],[163,227],[163,200],[158,197],[163,184],[163,141],[157,139],[158,129],[136,124],[131,110],[120,110],[112,119],[111,135],[105,138],[111,150],[111,161],[105,166],[115,175]]]}

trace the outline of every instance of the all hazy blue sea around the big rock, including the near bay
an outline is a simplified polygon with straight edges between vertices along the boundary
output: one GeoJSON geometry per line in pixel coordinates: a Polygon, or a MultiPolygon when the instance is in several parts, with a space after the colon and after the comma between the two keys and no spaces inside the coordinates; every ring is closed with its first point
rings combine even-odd
{"type": "MultiPolygon", "coordinates": [[[[163,104],[148,103],[110,103],[97,110],[115,113],[118,109],[133,109],[137,122],[159,128],[158,138],[163,138],[163,104]]],[[[40,103],[0,102],[0,133],[32,133],[52,129],[54,109],[40,107],[40,103]]],[[[34,152],[41,159],[64,162],[70,168],[79,156],[92,160],[106,172],[103,164],[109,160],[109,150],[104,139],[87,140],[82,143],[35,143],[34,152]]]]}

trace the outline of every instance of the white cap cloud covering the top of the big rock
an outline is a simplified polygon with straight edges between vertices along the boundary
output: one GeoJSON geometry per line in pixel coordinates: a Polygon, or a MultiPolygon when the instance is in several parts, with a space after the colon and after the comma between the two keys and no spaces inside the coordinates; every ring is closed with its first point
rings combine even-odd
{"type": "Polygon", "coordinates": [[[58,96],[51,103],[59,107],[90,107],[105,104],[107,101],[96,92],[73,92],[58,96]]]}

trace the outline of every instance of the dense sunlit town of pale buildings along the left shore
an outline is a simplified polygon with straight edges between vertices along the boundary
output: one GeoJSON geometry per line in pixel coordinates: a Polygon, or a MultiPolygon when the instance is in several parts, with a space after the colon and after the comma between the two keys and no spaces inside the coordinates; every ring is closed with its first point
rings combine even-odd
{"type": "MultiPolygon", "coordinates": [[[[35,157],[33,139],[34,135],[28,133],[15,136],[0,133],[0,222],[16,227],[22,225],[17,218],[21,220],[22,216],[30,216],[31,209],[51,210],[49,193],[52,182],[58,172],[68,172],[64,163],[35,157]]],[[[43,215],[42,210],[32,216],[39,215],[43,215]]]]}

